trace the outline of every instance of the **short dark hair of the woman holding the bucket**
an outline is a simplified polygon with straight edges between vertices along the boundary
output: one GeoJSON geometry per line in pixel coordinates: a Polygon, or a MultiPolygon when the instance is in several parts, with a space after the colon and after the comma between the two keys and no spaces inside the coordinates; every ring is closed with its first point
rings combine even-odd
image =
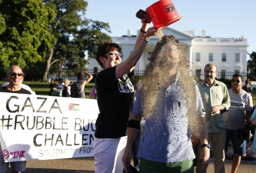
{"type": "Polygon", "coordinates": [[[118,43],[114,43],[112,41],[104,41],[98,46],[95,58],[102,68],[103,63],[101,62],[100,57],[107,54],[109,51],[121,52],[122,47],[118,43]]]}

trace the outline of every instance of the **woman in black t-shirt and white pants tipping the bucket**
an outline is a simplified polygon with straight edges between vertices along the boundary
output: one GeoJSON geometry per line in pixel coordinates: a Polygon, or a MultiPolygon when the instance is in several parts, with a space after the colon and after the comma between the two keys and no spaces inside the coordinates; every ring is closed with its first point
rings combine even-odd
{"type": "Polygon", "coordinates": [[[121,158],[126,145],[127,122],[134,95],[129,78],[133,76],[133,69],[148,40],[157,33],[154,27],[147,29],[145,19],[142,22],[135,48],[126,61],[121,63],[122,48],[112,41],[101,43],[95,54],[96,60],[104,69],[95,78],[100,110],[93,141],[95,173],[123,171],[121,158]]]}

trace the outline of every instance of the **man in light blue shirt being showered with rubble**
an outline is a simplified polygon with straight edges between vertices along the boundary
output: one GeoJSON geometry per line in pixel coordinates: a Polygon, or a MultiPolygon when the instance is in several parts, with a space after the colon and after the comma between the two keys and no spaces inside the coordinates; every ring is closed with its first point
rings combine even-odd
{"type": "Polygon", "coordinates": [[[183,46],[173,35],[159,41],[147,65],[128,121],[128,140],[122,158],[130,164],[132,141],[144,116],[145,134],[139,150],[140,173],[193,173],[191,133],[203,141],[201,171],[207,169],[210,149],[205,112],[198,87],[190,77],[183,46]]]}

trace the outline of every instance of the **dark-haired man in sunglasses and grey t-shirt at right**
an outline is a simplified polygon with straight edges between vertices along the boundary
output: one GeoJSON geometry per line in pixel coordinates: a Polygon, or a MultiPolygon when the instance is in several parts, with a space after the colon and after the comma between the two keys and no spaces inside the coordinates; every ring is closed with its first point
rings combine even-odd
{"type": "Polygon", "coordinates": [[[252,96],[242,89],[244,85],[243,76],[234,74],[231,80],[232,88],[229,89],[231,106],[229,112],[223,114],[226,122],[226,145],[225,151],[229,147],[229,140],[233,144],[233,164],[231,173],[235,173],[241,161],[241,156],[246,156],[246,141],[238,137],[238,130],[249,125],[251,111],[253,109],[252,96]]]}

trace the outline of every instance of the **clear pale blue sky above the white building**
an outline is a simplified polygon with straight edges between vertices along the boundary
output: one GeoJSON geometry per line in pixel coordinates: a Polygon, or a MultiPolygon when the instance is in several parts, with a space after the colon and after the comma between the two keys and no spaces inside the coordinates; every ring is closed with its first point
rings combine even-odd
{"type": "MultiPolygon", "coordinates": [[[[136,35],[141,27],[135,15],[139,9],[145,10],[158,0],[86,0],[85,17],[109,23],[110,36],[127,35],[130,28],[136,35]]],[[[178,31],[194,30],[194,36],[213,38],[236,38],[244,35],[247,52],[256,52],[256,0],[172,0],[182,17],[168,27],[178,31]]],[[[151,23],[150,26],[153,26],[151,23]]],[[[247,55],[247,60],[249,55],[247,55]]]]}

